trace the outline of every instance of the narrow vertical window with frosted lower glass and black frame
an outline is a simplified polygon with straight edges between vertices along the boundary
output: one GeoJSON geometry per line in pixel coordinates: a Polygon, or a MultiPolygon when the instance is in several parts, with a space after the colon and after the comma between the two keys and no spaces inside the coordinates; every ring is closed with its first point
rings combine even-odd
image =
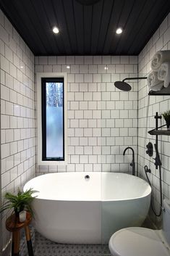
{"type": "Polygon", "coordinates": [[[41,78],[42,160],[64,161],[64,78],[41,78]]]}

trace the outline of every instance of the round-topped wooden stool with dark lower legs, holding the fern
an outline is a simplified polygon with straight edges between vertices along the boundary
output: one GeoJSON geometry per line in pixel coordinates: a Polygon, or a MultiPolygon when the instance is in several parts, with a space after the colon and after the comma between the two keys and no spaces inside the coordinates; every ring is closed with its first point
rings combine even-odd
{"type": "Polygon", "coordinates": [[[6,220],[6,228],[8,231],[12,232],[12,256],[19,256],[20,251],[20,229],[25,228],[25,236],[27,239],[27,250],[28,255],[33,256],[33,247],[30,237],[29,224],[32,220],[30,212],[27,212],[26,220],[20,222],[19,218],[13,214],[9,216],[6,220]]]}

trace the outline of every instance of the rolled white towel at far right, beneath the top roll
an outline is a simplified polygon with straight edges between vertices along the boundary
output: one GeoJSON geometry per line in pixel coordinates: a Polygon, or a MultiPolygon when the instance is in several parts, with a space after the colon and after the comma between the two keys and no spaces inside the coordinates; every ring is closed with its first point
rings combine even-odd
{"type": "Polygon", "coordinates": [[[170,61],[163,62],[158,69],[158,80],[163,80],[163,86],[168,87],[170,84],[170,61]]]}

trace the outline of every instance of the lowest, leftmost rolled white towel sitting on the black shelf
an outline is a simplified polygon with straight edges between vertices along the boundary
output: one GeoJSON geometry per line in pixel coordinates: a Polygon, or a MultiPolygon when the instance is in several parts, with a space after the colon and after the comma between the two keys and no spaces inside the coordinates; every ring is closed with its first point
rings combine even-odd
{"type": "Polygon", "coordinates": [[[158,80],[158,73],[155,71],[151,71],[150,74],[148,75],[148,86],[150,90],[152,91],[160,91],[163,83],[161,80],[158,80]]]}

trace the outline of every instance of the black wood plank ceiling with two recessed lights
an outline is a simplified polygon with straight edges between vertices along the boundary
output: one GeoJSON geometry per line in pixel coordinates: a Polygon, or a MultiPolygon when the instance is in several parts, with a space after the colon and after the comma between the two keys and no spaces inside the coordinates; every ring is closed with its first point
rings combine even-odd
{"type": "Polygon", "coordinates": [[[137,55],[170,0],[0,0],[0,7],[35,55],[137,55]]]}

